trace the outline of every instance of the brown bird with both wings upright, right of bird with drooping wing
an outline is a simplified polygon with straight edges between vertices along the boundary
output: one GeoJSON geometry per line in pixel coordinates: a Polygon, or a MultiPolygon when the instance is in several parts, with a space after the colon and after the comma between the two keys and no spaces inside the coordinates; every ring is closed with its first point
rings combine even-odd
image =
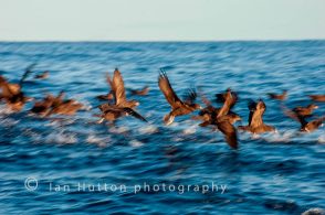
{"type": "Polygon", "coordinates": [[[268,126],[263,122],[263,115],[266,109],[266,105],[262,99],[258,103],[250,101],[249,103],[250,117],[248,126],[239,126],[238,129],[250,131],[252,133],[263,133],[274,131],[275,128],[272,126],[268,126]]]}

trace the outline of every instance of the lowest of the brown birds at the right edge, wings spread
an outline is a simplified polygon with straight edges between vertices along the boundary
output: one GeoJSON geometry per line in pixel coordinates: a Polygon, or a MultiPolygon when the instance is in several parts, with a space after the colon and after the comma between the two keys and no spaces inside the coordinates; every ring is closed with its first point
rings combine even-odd
{"type": "Polygon", "coordinates": [[[325,117],[323,116],[323,117],[314,119],[312,121],[306,121],[305,116],[301,116],[301,115],[287,109],[284,106],[282,106],[282,109],[284,110],[284,114],[286,116],[289,116],[290,118],[292,118],[301,123],[300,131],[303,131],[303,132],[312,132],[312,131],[316,130],[319,126],[322,126],[323,121],[325,120],[325,117]]]}

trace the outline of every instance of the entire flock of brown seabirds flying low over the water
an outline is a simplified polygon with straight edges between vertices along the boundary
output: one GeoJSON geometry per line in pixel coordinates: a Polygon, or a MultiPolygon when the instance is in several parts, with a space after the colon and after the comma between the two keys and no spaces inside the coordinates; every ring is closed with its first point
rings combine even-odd
{"type": "MultiPolygon", "coordinates": [[[[13,111],[20,111],[24,104],[33,100],[33,98],[27,97],[23,94],[23,83],[28,76],[32,73],[32,67],[29,66],[22,78],[18,84],[9,83],[3,76],[0,75],[0,101],[3,101],[8,108],[13,111]]],[[[41,74],[36,74],[34,78],[44,79],[49,77],[49,72],[45,71],[41,74]]],[[[128,100],[126,98],[126,90],[124,87],[124,80],[120,72],[116,68],[113,77],[109,74],[106,75],[107,83],[111,87],[111,92],[105,95],[99,95],[96,98],[105,100],[105,104],[98,106],[101,110],[98,123],[103,121],[114,122],[120,117],[133,116],[143,121],[147,120],[138,114],[135,108],[139,105],[137,100],[128,100]]],[[[223,133],[227,143],[238,149],[238,135],[237,130],[248,131],[251,133],[274,132],[273,126],[265,125],[263,122],[263,114],[266,110],[266,105],[262,99],[256,101],[251,100],[249,103],[249,123],[247,126],[239,126],[235,128],[233,125],[235,121],[241,120],[241,117],[233,112],[231,109],[234,107],[239,97],[235,92],[228,88],[224,93],[217,94],[217,101],[221,103],[221,107],[213,107],[212,103],[206,98],[202,92],[197,93],[196,89],[190,89],[185,99],[180,99],[172,89],[168,76],[165,71],[160,69],[158,76],[158,86],[166,100],[171,106],[171,110],[164,117],[164,122],[170,125],[178,116],[189,115],[195,110],[199,110],[197,116],[191,117],[195,120],[201,120],[200,127],[212,127],[223,133]],[[198,95],[201,97],[206,107],[201,107],[195,103],[198,95]]],[[[130,89],[133,95],[146,96],[149,92],[148,87],[143,89],[130,89]]],[[[283,94],[269,94],[270,98],[284,100],[287,97],[287,92],[283,94]]],[[[41,117],[49,117],[51,115],[74,115],[76,111],[83,108],[83,105],[74,99],[64,99],[65,94],[61,92],[57,96],[48,94],[42,100],[35,101],[30,112],[39,115],[41,117]]],[[[325,95],[311,95],[314,101],[325,101],[325,95]]],[[[312,132],[316,130],[325,120],[325,117],[319,117],[313,120],[307,120],[313,116],[313,110],[317,108],[316,105],[311,104],[306,107],[296,107],[289,109],[282,106],[284,114],[301,123],[301,131],[312,132]]]]}

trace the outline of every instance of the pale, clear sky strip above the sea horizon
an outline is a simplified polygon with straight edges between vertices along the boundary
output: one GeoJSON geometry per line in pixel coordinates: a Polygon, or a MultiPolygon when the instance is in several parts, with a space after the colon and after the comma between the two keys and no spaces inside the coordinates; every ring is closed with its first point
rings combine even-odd
{"type": "Polygon", "coordinates": [[[0,41],[325,39],[325,0],[0,0],[0,41]]]}

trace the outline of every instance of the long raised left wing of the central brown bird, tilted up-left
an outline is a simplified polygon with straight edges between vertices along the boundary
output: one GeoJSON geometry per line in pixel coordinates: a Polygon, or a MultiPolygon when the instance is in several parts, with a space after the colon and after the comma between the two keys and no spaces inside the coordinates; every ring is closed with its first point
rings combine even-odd
{"type": "Polygon", "coordinates": [[[174,92],[172,87],[170,86],[167,74],[162,69],[160,69],[158,85],[159,85],[160,90],[165,95],[167,101],[170,104],[170,106],[174,109],[184,105],[184,103],[178,98],[178,96],[174,92]]]}

